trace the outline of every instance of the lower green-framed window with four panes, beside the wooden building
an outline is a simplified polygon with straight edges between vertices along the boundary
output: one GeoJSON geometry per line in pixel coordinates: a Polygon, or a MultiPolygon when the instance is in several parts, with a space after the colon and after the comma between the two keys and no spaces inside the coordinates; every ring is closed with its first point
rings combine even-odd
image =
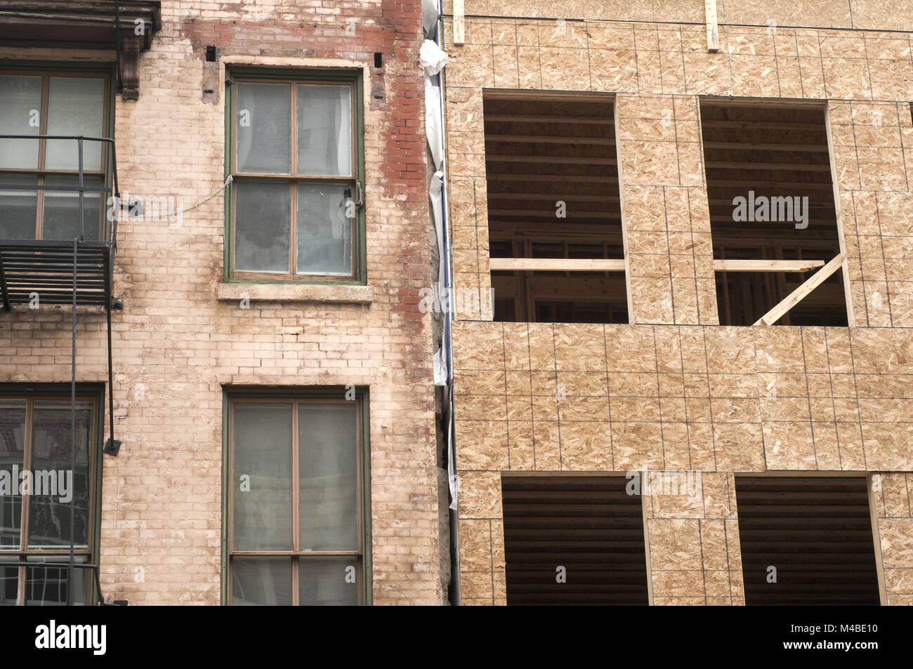
{"type": "Polygon", "coordinates": [[[367,396],[226,396],[226,603],[371,601],[367,396]]]}

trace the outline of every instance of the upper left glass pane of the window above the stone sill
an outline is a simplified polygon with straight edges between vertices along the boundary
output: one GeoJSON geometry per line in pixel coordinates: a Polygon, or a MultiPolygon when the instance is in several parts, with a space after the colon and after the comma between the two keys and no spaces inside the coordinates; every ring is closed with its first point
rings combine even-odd
{"type": "Polygon", "coordinates": [[[289,84],[237,86],[237,171],[291,172],[291,89],[289,84]]]}

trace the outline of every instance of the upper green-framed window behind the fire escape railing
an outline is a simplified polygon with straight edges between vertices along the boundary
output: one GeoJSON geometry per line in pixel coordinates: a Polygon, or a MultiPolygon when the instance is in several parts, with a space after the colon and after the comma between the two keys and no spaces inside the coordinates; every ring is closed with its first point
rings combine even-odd
{"type": "MultiPolygon", "coordinates": [[[[105,68],[0,63],[0,134],[110,136],[112,92],[105,68]]],[[[104,142],[83,143],[83,183],[110,183],[104,142]]],[[[70,140],[0,140],[0,238],[70,240],[80,233],[79,193],[45,190],[79,185],[79,151],[70,140]]],[[[84,195],[85,235],[106,231],[100,190],[84,195]]]]}

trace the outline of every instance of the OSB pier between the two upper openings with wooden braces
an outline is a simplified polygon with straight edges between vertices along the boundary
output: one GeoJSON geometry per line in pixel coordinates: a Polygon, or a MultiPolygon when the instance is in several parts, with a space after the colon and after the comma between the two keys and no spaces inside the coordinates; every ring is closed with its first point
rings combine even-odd
{"type": "Polygon", "coordinates": [[[617,96],[635,323],[718,323],[698,98],[617,96]]]}

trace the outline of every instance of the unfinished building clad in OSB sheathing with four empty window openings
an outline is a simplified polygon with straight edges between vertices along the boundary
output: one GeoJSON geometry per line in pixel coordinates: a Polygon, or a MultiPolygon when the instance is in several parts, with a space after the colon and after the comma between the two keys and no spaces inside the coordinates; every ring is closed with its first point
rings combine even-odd
{"type": "Polygon", "coordinates": [[[913,603],[910,5],[445,15],[462,603],[913,603]]]}

